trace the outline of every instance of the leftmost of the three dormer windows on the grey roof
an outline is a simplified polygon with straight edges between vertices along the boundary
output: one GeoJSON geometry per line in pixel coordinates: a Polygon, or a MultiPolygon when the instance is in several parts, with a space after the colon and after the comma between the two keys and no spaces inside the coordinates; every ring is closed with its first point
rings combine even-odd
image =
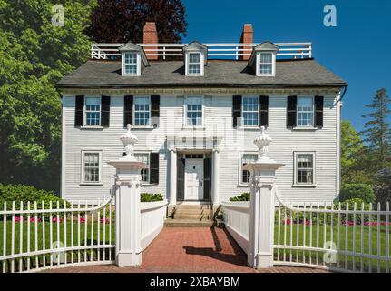
{"type": "Polygon", "coordinates": [[[121,75],[142,75],[142,69],[149,65],[142,47],[129,42],[122,45],[119,51],[122,58],[121,75]]]}

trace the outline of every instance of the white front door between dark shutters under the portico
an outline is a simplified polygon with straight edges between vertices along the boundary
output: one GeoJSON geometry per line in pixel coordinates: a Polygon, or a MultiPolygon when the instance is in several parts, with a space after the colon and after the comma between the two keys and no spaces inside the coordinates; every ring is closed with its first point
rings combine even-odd
{"type": "Polygon", "coordinates": [[[185,162],[185,200],[203,198],[203,160],[190,158],[185,162]]]}

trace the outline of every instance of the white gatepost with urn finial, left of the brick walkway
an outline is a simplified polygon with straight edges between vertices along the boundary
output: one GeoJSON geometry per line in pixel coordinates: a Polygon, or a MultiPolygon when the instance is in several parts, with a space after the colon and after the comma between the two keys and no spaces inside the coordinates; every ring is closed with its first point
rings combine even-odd
{"type": "Polygon", "coordinates": [[[140,187],[141,169],[144,163],[133,156],[133,145],[138,141],[132,134],[132,125],[121,136],[125,156],[108,164],[116,169],[115,175],[115,258],[117,266],[140,266],[142,264],[142,230],[140,187]]]}

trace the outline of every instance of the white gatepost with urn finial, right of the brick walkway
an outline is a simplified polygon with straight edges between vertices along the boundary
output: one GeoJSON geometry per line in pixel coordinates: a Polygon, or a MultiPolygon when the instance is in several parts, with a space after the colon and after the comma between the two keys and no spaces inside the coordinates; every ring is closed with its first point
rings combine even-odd
{"type": "Polygon", "coordinates": [[[276,183],[276,170],[284,166],[277,164],[267,156],[271,138],[265,134],[265,127],[254,140],[259,148],[256,162],[247,164],[243,169],[250,172],[249,202],[249,252],[248,264],[255,268],[273,266],[274,245],[274,201],[273,187],[276,183]]]}

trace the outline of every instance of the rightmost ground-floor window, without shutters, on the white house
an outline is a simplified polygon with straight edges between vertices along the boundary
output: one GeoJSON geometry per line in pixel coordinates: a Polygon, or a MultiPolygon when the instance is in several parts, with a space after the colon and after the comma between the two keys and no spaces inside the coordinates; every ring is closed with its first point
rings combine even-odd
{"type": "Polygon", "coordinates": [[[314,185],[315,184],[315,155],[314,153],[296,153],[295,184],[314,185]]]}

